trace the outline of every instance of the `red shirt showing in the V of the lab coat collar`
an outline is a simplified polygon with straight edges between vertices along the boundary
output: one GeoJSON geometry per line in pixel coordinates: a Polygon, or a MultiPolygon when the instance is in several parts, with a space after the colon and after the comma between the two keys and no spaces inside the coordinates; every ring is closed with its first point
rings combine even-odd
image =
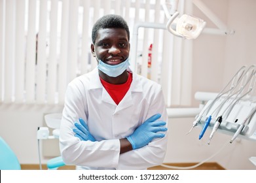
{"type": "Polygon", "coordinates": [[[107,93],[109,93],[109,95],[113,99],[113,101],[115,101],[115,103],[119,105],[120,101],[122,101],[122,98],[131,86],[132,73],[129,73],[128,80],[124,84],[111,84],[109,82],[105,82],[105,80],[101,78],[100,81],[101,84],[104,86],[105,90],[107,90],[107,93]]]}

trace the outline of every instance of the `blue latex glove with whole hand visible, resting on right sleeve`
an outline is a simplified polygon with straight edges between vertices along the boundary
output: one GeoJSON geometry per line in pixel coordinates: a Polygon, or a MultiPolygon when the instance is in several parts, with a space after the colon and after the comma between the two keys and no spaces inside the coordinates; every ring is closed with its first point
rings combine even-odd
{"type": "Polygon", "coordinates": [[[158,131],[167,131],[166,122],[156,121],[161,117],[161,114],[155,114],[141,124],[137,129],[127,137],[128,141],[132,144],[133,149],[141,148],[155,138],[164,137],[164,133],[157,133],[158,131]]]}

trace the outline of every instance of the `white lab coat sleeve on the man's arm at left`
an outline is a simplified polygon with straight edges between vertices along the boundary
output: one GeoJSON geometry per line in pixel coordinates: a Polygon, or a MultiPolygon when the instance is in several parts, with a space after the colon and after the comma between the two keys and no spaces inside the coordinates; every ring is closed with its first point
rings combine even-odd
{"type": "Polygon", "coordinates": [[[86,96],[82,90],[79,84],[69,84],[65,94],[60,127],[60,152],[64,163],[88,167],[117,167],[120,154],[118,139],[92,142],[80,141],[74,136],[74,122],[78,122],[80,117],[86,120],[86,96]]]}

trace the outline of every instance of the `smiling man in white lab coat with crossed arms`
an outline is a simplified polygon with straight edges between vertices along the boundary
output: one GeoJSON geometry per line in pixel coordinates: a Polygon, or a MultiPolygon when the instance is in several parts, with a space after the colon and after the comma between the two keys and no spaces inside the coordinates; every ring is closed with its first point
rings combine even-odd
{"type": "Polygon", "coordinates": [[[132,73],[130,32],[121,16],[92,29],[98,67],[67,87],[60,152],[79,169],[147,169],[164,160],[168,116],[159,84],[132,73]]]}

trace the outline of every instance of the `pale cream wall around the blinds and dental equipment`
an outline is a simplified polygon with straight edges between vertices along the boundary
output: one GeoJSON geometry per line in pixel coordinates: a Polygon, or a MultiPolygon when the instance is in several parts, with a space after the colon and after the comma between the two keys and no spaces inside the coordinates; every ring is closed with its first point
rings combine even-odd
{"type": "MultiPolygon", "coordinates": [[[[230,77],[242,67],[255,63],[256,1],[204,0],[223,22],[236,30],[235,35],[200,35],[193,41],[192,93],[196,91],[219,92],[230,77]]],[[[194,15],[204,18],[194,8],[194,15]]],[[[207,20],[207,18],[206,18],[207,20]]],[[[213,24],[208,22],[211,27],[213,24]]],[[[192,101],[194,107],[198,101],[192,101]]],[[[10,144],[20,163],[39,163],[37,152],[37,127],[43,125],[43,115],[61,112],[62,106],[5,105],[0,104],[0,135],[10,144]]],[[[256,169],[248,160],[256,156],[256,142],[240,140],[229,144],[230,136],[215,133],[208,145],[210,131],[199,141],[200,127],[185,135],[193,118],[170,119],[169,144],[166,163],[199,162],[227,146],[210,161],[217,161],[226,169],[256,169]]],[[[43,159],[46,162],[46,158],[43,159]]]]}

